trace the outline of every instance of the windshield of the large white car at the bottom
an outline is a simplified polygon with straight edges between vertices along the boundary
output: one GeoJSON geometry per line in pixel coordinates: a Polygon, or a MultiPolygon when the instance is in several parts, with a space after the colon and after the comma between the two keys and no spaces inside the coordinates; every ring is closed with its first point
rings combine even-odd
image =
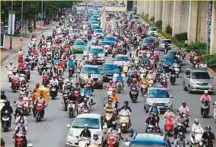
{"type": "Polygon", "coordinates": [[[99,129],[99,119],[96,118],[77,118],[72,128],[84,128],[85,124],[88,124],[89,129],[99,129]]]}

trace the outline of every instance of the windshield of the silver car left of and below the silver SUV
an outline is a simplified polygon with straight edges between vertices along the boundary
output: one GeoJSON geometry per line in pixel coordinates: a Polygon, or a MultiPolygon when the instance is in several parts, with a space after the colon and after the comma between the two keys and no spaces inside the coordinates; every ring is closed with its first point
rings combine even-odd
{"type": "Polygon", "coordinates": [[[167,90],[152,89],[149,90],[149,98],[169,98],[167,90]]]}

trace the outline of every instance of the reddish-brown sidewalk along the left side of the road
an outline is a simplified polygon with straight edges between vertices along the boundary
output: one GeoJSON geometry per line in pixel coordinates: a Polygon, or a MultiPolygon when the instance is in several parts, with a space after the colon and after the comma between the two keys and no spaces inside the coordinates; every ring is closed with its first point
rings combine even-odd
{"type": "MultiPolygon", "coordinates": [[[[50,25],[46,25],[46,26],[41,26],[41,22],[38,21],[36,22],[36,29],[32,32],[36,35],[40,35],[42,34],[45,30],[49,29],[50,25]]],[[[27,35],[31,36],[31,34],[29,31],[27,31],[27,35]]],[[[12,36],[12,49],[9,49],[10,47],[10,36],[6,35],[5,36],[5,48],[1,49],[1,62],[3,62],[10,54],[16,52],[17,50],[19,50],[20,48],[22,48],[24,45],[28,44],[30,41],[29,37],[23,37],[23,40],[20,41],[20,37],[15,37],[12,36]]]]}

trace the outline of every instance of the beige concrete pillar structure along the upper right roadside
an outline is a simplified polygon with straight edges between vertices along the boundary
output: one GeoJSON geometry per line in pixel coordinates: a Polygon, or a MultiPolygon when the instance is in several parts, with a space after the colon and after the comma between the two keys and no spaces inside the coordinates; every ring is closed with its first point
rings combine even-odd
{"type": "MultiPolygon", "coordinates": [[[[206,42],[208,34],[208,1],[138,1],[137,13],[148,14],[154,22],[162,20],[162,31],[169,25],[172,36],[187,33],[188,42],[206,42]]],[[[216,1],[212,2],[210,53],[216,53],[216,1]]]]}

